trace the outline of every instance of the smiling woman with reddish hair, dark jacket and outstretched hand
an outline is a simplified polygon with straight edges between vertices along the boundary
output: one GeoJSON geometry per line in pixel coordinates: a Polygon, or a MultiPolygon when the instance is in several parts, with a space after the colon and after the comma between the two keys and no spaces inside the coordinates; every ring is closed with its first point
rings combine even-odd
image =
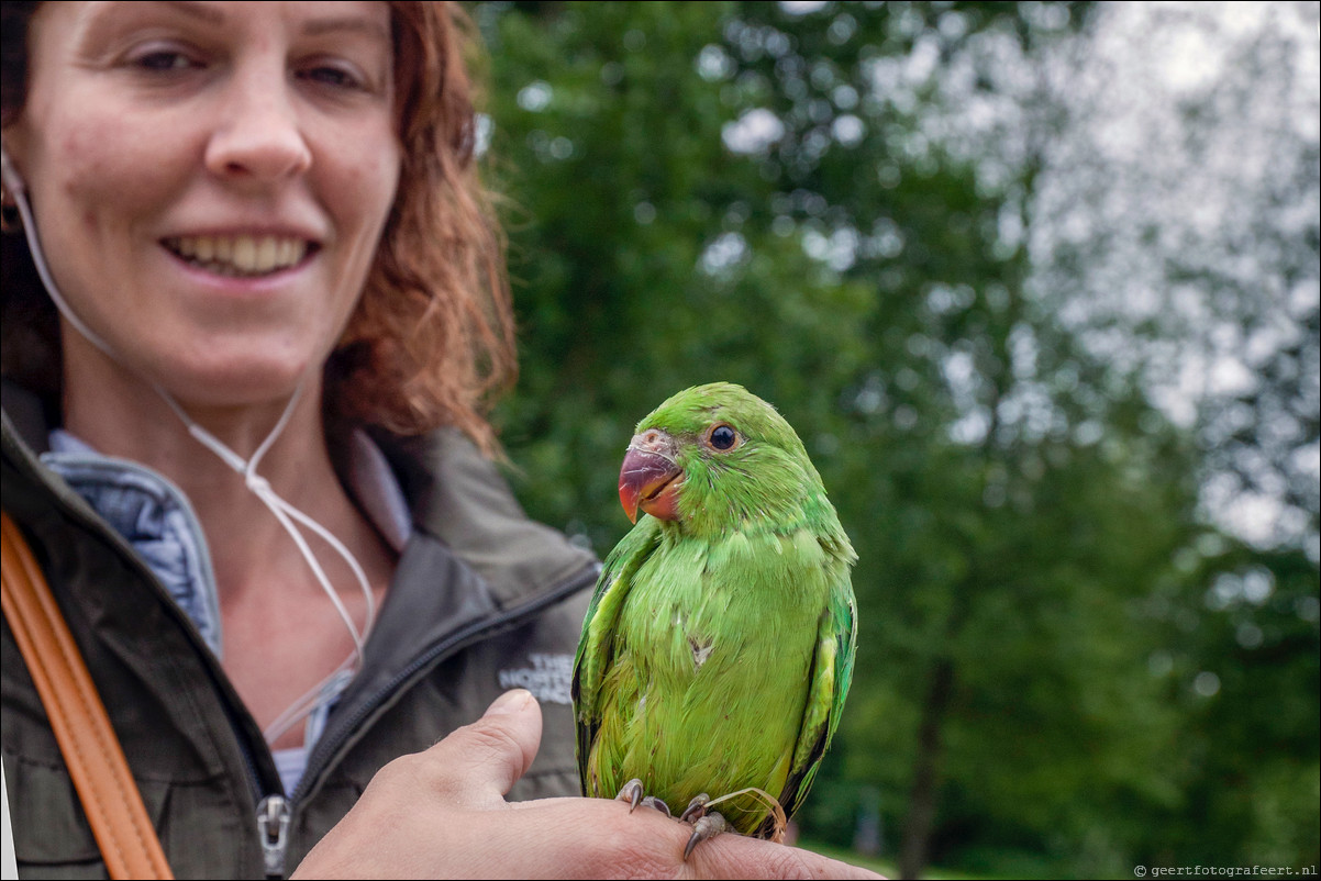
{"type": "MultiPolygon", "coordinates": [[[[511,309],[457,11],[5,3],[3,123],[4,510],[174,873],[322,839],[301,873],[672,873],[664,818],[503,799],[577,791],[597,567],[487,458],[511,309]],[[544,728],[523,691],[482,715],[522,682],[544,728]]],[[[99,874],[3,645],[20,872],[99,874]]],[[[695,868],[839,870],[812,860],[695,868]]]]}

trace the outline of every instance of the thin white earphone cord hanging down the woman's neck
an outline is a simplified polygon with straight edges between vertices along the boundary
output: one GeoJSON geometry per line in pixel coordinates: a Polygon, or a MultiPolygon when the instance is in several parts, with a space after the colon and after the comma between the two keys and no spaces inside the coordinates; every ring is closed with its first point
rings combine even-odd
{"type": "MultiPolygon", "coordinates": [[[[46,265],[45,254],[41,248],[40,238],[37,236],[37,225],[32,217],[32,207],[28,203],[26,188],[22,184],[22,178],[18,177],[17,170],[11,165],[9,156],[7,152],[0,153],[0,172],[3,172],[3,180],[5,186],[9,188],[13,194],[15,203],[18,207],[18,215],[22,219],[22,232],[28,239],[28,250],[32,254],[32,262],[37,267],[37,275],[41,277],[41,283],[46,288],[46,293],[50,295],[52,301],[59,309],[59,313],[69,321],[73,328],[83,335],[89,342],[100,349],[111,361],[122,366],[124,362],[115,354],[115,350],[108,342],[102,339],[95,334],[91,328],[89,328],[73,310],[73,308],[65,301],[65,297],[59,293],[58,285],[55,285],[54,277],[50,275],[50,268],[46,265]]],[[[353,651],[349,656],[336,667],[329,676],[318,682],[313,688],[310,688],[301,697],[295,700],[280,716],[277,716],[266,730],[262,732],[266,737],[267,744],[273,744],[279,737],[292,728],[300,719],[312,713],[317,705],[321,703],[321,693],[325,687],[332,683],[342,671],[351,670],[354,664],[361,666],[363,658],[363,647],[367,641],[367,635],[371,633],[371,627],[376,618],[376,602],[375,596],[371,592],[371,584],[367,581],[366,573],[358,564],[357,557],[342,542],[339,542],[334,535],[330,534],[324,526],[317,523],[314,519],[300,511],[297,507],[285,502],[271,486],[269,481],[256,473],[256,468],[262,458],[266,456],[267,450],[275,444],[276,439],[284,431],[285,425],[289,424],[289,419],[293,416],[295,405],[303,392],[303,384],[300,383],[295,388],[293,395],[289,398],[289,403],[285,404],[284,412],[280,413],[280,419],[276,421],[275,428],[266,436],[266,440],[258,445],[256,452],[247,460],[235,453],[232,449],[225,445],[218,437],[211,435],[209,431],[198,425],[193,419],[185,412],[185,409],[174,400],[174,398],[166,392],[161,386],[151,383],[152,388],[156,391],[161,399],[169,404],[169,408],[184,421],[188,427],[188,433],[193,436],[199,444],[206,449],[211,450],[217,457],[221,458],[226,465],[232,468],[243,477],[243,485],[251,491],[262,503],[271,511],[275,519],[280,523],[281,528],[288,532],[289,538],[293,539],[295,546],[299,548],[299,553],[306,561],[308,567],[312,569],[312,575],[316,577],[317,584],[334,604],[336,612],[339,614],[341,621],[343,621],[345,627],[349,630],[349,635],[353,639],[353,651]],[[299,528],[301,523],[305,528],[320,536],[326,544],[338,553],[345,563],[349,564],[349,569],[353,572],[354,580],[362,589],[362,596],[366,601],[366,621],[363,622],[362,630],[358,630],[353,621],[353,616],[345,608],[343,601],[339,598],[338,592],[330,584],[330,579],[326,577],[321,563],[317,560],[316,553],[308,546],[306,538],[299,528]]]]}

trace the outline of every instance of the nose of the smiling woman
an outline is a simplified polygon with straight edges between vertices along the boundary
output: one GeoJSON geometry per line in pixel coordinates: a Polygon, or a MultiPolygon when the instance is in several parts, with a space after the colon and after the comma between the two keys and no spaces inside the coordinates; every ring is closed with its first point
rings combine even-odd
{"type": "Polygon", "coordinates": [[[219,119],[206,145],[207,169],[227,181],[268,185],[312,165],[283,66],[236,70],[226,86],[219,119]]]}

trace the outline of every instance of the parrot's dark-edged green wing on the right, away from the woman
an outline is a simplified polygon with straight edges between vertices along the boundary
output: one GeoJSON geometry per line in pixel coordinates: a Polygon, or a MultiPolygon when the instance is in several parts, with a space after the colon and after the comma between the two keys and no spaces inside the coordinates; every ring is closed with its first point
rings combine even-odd
{"type": "Polygon", "coordinates": [[[844,697],[853,680],[853,652],[857,613],[848,569],[841,567],[830,592],[826,610],[816,627],[816,650],[807,686],[803,728],[794,746],[789,778],[779,803],[789,816],[802,806],[816,777],[822,756],[830,746],[844,712],[844,697]]]}

